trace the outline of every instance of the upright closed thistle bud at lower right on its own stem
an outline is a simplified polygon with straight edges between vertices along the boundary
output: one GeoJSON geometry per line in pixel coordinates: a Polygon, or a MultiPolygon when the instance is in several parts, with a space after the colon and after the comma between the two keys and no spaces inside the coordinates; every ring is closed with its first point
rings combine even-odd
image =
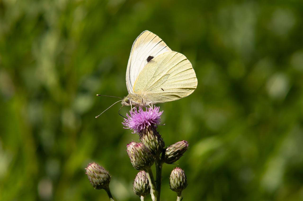
{"type": "Polygon", "coordinates": [[[169,186],[171,190],[175,191],[177,194],[181,194],[182,190],[187,187],[186,175],[181,168],[177,167],[171,171],[169,186]]]}

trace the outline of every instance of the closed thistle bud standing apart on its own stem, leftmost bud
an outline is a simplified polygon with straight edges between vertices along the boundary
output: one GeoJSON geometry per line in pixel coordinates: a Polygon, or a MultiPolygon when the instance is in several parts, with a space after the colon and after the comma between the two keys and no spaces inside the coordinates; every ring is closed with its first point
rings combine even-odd
{"type": "Polygon", "coordinates": [[[87,177],[95,189],[109,189],[111,176],[108,171],[94,162],[89,163],[85,169],[87,177]]]}

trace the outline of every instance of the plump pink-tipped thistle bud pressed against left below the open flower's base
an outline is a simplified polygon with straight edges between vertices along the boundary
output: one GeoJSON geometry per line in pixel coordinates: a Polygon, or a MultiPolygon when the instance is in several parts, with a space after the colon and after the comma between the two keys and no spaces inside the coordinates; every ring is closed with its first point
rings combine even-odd
{"type": "Polygon", "coordinates": [[[131,163],[136,170],[146,170],[154,164],[154,156],[141,142],[130,142],[126,147],[131,163]]]}

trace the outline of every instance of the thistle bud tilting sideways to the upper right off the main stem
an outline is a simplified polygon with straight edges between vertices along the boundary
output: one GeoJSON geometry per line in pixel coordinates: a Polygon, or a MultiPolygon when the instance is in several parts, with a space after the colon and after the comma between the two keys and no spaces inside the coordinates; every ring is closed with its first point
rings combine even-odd
{"type": "Polygon", "coordinates": [[[181,158],[181,156],[183,156],[187,148],[187,141],[182,140],[180,142],[176,142],[175,144],[169,145],[165,149],[165,152],[163,152],[161,158],[167,164],[175,163],[181,158]]]}

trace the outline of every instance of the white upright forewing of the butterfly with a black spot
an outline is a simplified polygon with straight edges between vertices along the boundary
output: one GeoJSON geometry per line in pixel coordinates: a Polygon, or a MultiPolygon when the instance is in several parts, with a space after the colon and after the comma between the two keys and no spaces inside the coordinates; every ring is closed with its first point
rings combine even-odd
{"type": "Polygon", "coordinates": [[[156,34],[143,31],[132,45],[126,69],[126,86],[129,94],[133,94],[133,86],[139,73],[150,59],[171,49],[156,34]]]}

